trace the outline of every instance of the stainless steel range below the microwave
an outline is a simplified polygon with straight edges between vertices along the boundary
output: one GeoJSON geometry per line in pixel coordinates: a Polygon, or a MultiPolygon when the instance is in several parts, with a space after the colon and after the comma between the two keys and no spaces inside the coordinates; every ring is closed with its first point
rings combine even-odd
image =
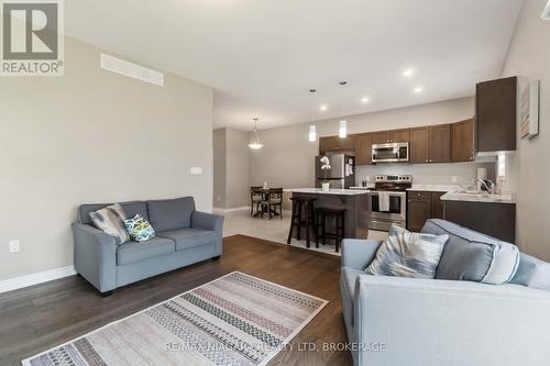
{"type": "Polygon", "coordinates": [[[369,200],[369,229],[388,231],[395,223],[407,224],[407,188],[413,176],[376,176],[374,191],[369,200]]]}

